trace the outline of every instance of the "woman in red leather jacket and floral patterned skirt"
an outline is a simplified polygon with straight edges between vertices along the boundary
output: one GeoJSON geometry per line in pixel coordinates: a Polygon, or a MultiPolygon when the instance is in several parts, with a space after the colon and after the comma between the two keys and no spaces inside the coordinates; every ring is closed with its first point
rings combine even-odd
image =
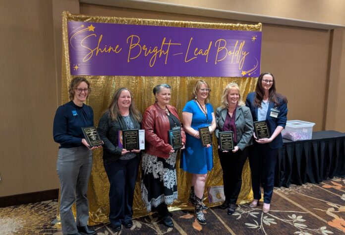
{"type": "Polygon", "coordinates": [[[177,152],[169,144],[168,131],[180,128],[182,149],[185,133],[176,108],[169,105],[171,86],[157,85],[153,93],[156,102],[145,110],[141,123],[146,140],[142,159],[141,197],[148,212],[156,210],[163,224],[173,227],[167,205],[177,199],[177,152]]]}

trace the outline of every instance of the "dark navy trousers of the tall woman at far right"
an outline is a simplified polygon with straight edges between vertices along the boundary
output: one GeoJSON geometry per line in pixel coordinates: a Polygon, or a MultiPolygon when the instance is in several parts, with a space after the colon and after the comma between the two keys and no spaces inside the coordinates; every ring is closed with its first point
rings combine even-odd
{"type": "Polygon", "coordinates": [[[269,144],[249,147],[249,165],[251,170],[254,199],[261,199],[260,184],[264,189],[264,203],[271,203],[274,188],[274,173],[278,149],[271,149],[269,144]]]}

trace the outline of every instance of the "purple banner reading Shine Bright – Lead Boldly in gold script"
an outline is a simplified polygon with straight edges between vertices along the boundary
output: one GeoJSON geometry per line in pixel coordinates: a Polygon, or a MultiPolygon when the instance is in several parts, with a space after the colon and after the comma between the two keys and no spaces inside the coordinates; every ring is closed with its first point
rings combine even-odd
{"type": "Polygon", "coordinates": [[[71,75],[258,77],[261,32],[68,21],[71,75]]]}

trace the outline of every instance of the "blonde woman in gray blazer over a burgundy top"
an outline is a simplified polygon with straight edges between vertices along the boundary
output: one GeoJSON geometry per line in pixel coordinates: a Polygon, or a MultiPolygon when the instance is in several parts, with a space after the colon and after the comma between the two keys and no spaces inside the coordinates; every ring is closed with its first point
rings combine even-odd
{"type": "Polygon", "coordinates": [[[225,201],[222,209],[228,208],[228,215],[235,212],[235,205],[242,185],[242,168],[247,158],[246,147],[251,145],[253,119],[250,109],[244,106],[237,83],[229,83],[222,95],[221,107],[216,111],[216,137],[219,132],[232,131],[234,149],[220,151],[218,155],[223,169],[225,201]]]}

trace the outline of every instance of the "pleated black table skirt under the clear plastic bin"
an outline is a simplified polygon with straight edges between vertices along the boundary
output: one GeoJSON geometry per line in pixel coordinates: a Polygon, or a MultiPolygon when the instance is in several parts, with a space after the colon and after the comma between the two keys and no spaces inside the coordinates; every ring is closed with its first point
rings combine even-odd
{"type": "Polygon", "coordinates": [[[334,176],[345,176],[345,133],[318,131],[311,140],[284,139],[278,151],[275,187],[320,183],[334,176]]]}

